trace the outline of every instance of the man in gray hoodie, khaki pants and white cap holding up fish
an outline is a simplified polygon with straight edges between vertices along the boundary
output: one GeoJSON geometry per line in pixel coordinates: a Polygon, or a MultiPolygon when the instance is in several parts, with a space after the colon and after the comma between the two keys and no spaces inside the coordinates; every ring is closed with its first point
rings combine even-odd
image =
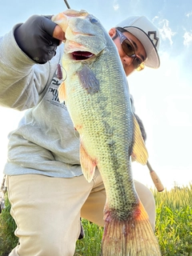
{"type": "MultiPolygon", "coordinates": [[[[158,30],[145,17],[130,17],[109,32],[126,75],[158,68],[158,30]],[[156,40],[156,41],[155,41],[156,40]]],[[[98,170],[86,182],[79,162],[79,139],[65,104],[58,101],[58,64],[65,38],[50,17],[34,15],[0,38],[0,103],[27,110],[9,135],[4,173],[17,223],[19,244],[10,256],[72,256],[79,218],[103,225],[106,193],[98,170]],[[40,65],[39,65],[39,64],[40,65]]],[[[150,190],[135,187],[154,228],[150,190]]]]}

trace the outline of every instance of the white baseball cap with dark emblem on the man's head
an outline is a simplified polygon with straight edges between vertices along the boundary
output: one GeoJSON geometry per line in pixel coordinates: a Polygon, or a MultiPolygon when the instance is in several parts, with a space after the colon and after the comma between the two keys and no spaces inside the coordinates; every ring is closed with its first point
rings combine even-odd
{"type": "Polygon", "coordinates": [[[145,16],[130,16],[116,27],[118,26],[138,38],[146,50],[145,65],[157,69],[160,66],[158,28],[145,16]]]}

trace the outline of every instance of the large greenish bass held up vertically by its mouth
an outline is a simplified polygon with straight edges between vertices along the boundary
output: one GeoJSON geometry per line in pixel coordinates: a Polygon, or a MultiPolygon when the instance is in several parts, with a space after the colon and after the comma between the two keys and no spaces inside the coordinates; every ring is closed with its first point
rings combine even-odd
{"type": "Polygon", "coordinates": [[[103,256],[158,256],[158,241],[134,189],[130,157],[146,164],[147,152],[118,50],[86,11],[66,10],[52,18],[65,32],[59,88],[80,135],[82,172],[90,182],[96,166],[106,188],[103,256]]]}

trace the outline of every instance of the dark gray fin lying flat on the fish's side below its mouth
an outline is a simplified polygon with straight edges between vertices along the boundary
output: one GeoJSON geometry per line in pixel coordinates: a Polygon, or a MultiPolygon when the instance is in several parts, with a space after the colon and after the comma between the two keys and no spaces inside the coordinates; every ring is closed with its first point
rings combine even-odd
{"type": "Polygon", "coordinates": [[[86,65],[78,70],[78,78],[87,94],[96,94],[99,90],[99,82],[94,72],[86,65]]]}

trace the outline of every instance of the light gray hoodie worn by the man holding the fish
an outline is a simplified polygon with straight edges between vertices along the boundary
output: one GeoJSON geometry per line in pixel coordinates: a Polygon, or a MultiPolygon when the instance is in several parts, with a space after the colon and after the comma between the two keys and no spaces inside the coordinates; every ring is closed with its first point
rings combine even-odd
{"type": "MultiPolygon", "coordinates": [[[[14,29],[17,26],[14,27],[14,29]]],[[[34,63],[14,39],[0,38],[0,105],[26,110],[9,134],[4,174],[44,174],[72,178],[82,174],[79,138],[65,103],[58,101],[57,67],[63,52],[46,64],[34,63]]]]}

